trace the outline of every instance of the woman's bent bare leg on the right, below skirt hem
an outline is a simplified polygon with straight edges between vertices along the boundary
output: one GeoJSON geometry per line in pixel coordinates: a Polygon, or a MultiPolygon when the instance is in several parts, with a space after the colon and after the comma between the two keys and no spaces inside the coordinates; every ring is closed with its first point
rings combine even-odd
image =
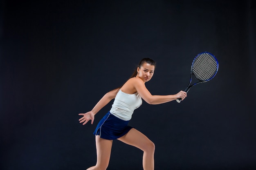
{"type": "Polygon", "coordinates": [[[144,152],[142,161],[143,169],[154,170],[155,144],[148,137],[135,128],[132,128],[126,135],[118,138],[118,140],[141,149],[144,152]]]}

